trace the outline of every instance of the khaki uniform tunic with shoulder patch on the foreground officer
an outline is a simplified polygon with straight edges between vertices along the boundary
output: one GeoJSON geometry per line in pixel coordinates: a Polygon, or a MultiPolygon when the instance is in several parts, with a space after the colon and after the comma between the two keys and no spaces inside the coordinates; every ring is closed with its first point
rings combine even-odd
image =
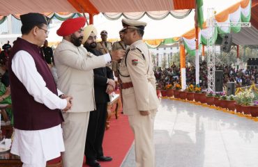
{"type": "Polygon", "coordinates": [[[130,45],[119,67],[119,77],[123,83],[133,84],[132,88],[122,90],[123,113],[135,115],[139,111],[158,109],[151,54],[142,40],[130,45]]]}

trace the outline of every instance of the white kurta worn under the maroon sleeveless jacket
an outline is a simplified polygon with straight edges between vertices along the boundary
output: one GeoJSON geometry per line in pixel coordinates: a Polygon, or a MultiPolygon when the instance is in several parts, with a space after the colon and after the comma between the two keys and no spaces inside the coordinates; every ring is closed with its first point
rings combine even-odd
{"type": "MultiPolygon", "coordinates": [[[[52,93],[38,73],[32,56],[27,51],[18,51],[12,59],[12,70],[24,84],[36,102],[45,104],[49,109],[65,109],[66,100],[52,93]]],[[[61,91],[58,90],[61,95],[61,91]]],[[[11,153],[17,154],[25,164],[35,164],[39,159],[48,161],[64,152],[61,125],[49,129],[26,131],[15,129],[11,153]]]]}

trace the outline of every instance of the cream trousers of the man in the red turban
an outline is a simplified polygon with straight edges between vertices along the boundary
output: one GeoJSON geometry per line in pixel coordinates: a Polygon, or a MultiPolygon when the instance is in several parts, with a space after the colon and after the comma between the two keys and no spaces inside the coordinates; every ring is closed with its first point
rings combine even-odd
{"type": "Polygon", "coordinates": [[[62,154],[63,167],[82,167],[89,113],[63,113],[63,141],[66,149],[62,154]]]}

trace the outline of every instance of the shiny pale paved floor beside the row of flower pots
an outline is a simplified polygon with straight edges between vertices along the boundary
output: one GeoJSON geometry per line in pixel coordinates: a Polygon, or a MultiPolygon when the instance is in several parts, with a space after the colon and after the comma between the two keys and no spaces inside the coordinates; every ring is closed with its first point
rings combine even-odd
{"type": "MultiPolygon", "coordinates": [[[[258,122],[162,100],[155,119],[156,167],[257,167],[258,122]]],[[[122,167],[135,166],[134,145],[122,167]]]]}

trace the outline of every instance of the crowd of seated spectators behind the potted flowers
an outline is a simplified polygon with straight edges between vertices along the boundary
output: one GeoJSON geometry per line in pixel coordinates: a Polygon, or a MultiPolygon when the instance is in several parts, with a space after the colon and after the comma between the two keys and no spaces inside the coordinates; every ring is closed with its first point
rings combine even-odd
{"type": "MultiPolygon", "coordinates": [[[[223,71],[223,88],[227,86],[227,82],[235,82],[236,88],[250,86],[252,83],[258,84],[258,70],[257,69],[236,69],[230,65],[216,65],[216,70],[223,71]]],[[[208,87],[208,71],[207,63],[202,61],[199,63],[199,86],[202,89],[208,87]]],[[[185,69],[186,85],[195,84],[195,65],[190,64],[185,69]]],[[[171,67],[161,67],[155,69],[155,77],[158,82],[158,87],[163,89],[167,84],[179,84],[181,82],[181,71],[180,67],[176,67],[173,63],[171,67]]]]}

